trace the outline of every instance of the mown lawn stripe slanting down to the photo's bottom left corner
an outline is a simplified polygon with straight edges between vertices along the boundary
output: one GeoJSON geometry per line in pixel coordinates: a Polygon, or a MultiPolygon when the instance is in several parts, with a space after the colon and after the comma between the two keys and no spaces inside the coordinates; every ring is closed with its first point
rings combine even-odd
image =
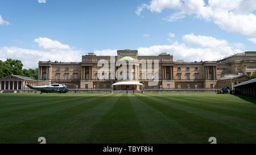
{"type": "MultiPolygon", "coordinates": [[[[70,103],[69,106],[61,107],[59,110],[51,110],[47,115],[27,120],[26,122],[13,124],[9,128],[0,129],[0,143],[31,143],[31,138],[36,132],[40,132],[46,128],[61,123],[61,121],[80,114],[86,108],[91,108],[102,100],[108,99],[108,95],[84,102],[80,100],[76,103],[70,103]],[[20,141],[22,140],[22,141],[20,141]]],[[[47,111],[46,111],[47,112],[47,111]]]]}

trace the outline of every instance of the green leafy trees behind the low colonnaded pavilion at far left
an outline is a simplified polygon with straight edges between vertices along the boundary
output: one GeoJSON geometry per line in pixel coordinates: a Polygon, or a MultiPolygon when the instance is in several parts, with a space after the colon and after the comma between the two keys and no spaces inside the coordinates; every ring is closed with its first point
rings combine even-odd
{"type": "Polygon", "coordinates": [[[23,68],[22,61],[11,58],[7,58],[6,61],[0,60],[0,78],[11,74],[38,79],[38,68],[25,69],[23,68]]]}

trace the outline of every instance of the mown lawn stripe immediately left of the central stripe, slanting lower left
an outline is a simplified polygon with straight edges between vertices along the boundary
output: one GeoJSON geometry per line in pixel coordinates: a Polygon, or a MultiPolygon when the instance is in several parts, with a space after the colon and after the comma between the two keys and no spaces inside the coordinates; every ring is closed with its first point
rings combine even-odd
{"type": "Polygon", "coordinates": [[[35,136],[46,135],[48,143],[89,143],[92,141],[90,133],[93,127],[100,123],[101,118],[109,112],[119,97],[121,94],[113,94],[108,99],[101,100],[100,104],[65,119],[62,123],[53,125],[35,136]]]}

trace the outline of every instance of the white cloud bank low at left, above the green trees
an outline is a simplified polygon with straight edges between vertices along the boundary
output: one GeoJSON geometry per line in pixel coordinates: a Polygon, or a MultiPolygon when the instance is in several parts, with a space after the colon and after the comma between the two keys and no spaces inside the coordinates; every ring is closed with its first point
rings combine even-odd
{"type": "Polygon", "coordinates": [[[35,39],[40,50],[25,49],[18,47],[2,47],[0,48],[0,60],[13,58],[21,60],[24,68],[37,68],[38,61],[81,61],[82,50],[72,49],[68,45],[63,45],[59,41],[39,37],[35,39]]]}

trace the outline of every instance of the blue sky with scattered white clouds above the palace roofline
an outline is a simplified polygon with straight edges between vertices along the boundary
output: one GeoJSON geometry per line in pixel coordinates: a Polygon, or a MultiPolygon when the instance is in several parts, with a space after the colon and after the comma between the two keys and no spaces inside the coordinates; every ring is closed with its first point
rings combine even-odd
{"type": "MultiPolygon", "coordinates": [[[[215,59],[241,51],[255,51],[254,28],[250,30],[250,25],[249,28],[232,27],[233,23],[240,26],[241,21],[236,18],[238,15],[244,16],[245,20],[242,22],[246,22],[246,17],[252,15],[249,22],[254,24],[254,6],[250,12],[239,6],[221,8],[234,12],[232,21],[226,23],[224,19],[218,19],[216,11],[214,12],[216,7],[209,6],[208,1],[205,1],[204,6],[209,8],[205,7],[206,11],[200,12],[187,9],[191,6],[187,5],[189,2],[183,0],[176,4],[178,1],[46,0],[46,3],[39,3],[38,0],[1,0],[0,59],[28,57],[21,58],[25,67],[35,68],[36,62],[33,62],[35,65],[28,62],[31,58],[36,59],[35,61],[54,58],[80,61],[81,55],[87,52],[105,55],[114,54],[116,49],[141,49],[141,55],[168,52],[174,58],[176,56],[176,59],[188,61],[200,59],[204,52],[212,52],[211,55],[214,55],[213,51],[216,50],[219,52],[215,59]],[[143,7],[139,15],[136,14],[135,11],[143,4],[146,7],[143,7]],[[175,12],[181,12],[183,17],[168,21],[166,18],[175,12]],[[174,33],[175,36],[170,37],[168,33],[174,33]],[[187,36],[184,37],[185,35],[187,36]],[[54,44],[56,41],[57,45],[54,44]],[[211,43],[210,41],[216,43],[216,46],[204,44],[211,43]],[[61,45],[68,45],[69,48],[63,49],[61,45]],[[220,49],[220,45],[223,48],[220,49]],[[181,55],[179,51],[185,54],[181,55]],[[54,56],[47,57],[50,54],[54,56]],[[36,56],[39,58],[35,58],[36,56]]],[[[192,5],[204,7],[196,4],[197,2],[192,5]]],[[[219,3],[218,5],[225,6],[225,3],[219,3]]],[[[226,15],[225,11],[223,14],[226,15]]],[[[211,58],[208,56],[201,59],[211,58]]]]}

